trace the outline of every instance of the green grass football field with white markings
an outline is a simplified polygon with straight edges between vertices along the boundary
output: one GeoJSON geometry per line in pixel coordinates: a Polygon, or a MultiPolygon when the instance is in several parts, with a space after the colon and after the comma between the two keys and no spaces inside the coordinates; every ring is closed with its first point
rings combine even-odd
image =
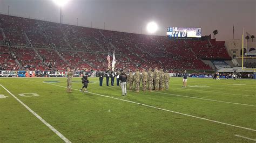
{"type": "Polygon", "coordinates": [[[66,78],[0,78],[0,142],[256,141],[256,80],[188,78],[184,89],[173,77],[169,91],[127,96],[105,79],[103,87],[89,80],[82,93],[80,78],[72,78],[68,93],[66,78]]]}

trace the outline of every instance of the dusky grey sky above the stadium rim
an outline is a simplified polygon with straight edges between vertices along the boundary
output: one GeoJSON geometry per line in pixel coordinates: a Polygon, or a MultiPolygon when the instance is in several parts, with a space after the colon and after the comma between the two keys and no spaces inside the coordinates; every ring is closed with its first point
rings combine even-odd
{"type": "MultiPolygon", "coordinates": [[[[0,0],[0,12],[59,22],[59,7],[51,0],[0,0]]],[[[149,34],[146,24],[201,27],[202,35],[218,30],[217,40],[241,39],[242,28],[256,35],[256,0],[70,0],[63,7],[63,23],[107,30],[149,34]]]]}

